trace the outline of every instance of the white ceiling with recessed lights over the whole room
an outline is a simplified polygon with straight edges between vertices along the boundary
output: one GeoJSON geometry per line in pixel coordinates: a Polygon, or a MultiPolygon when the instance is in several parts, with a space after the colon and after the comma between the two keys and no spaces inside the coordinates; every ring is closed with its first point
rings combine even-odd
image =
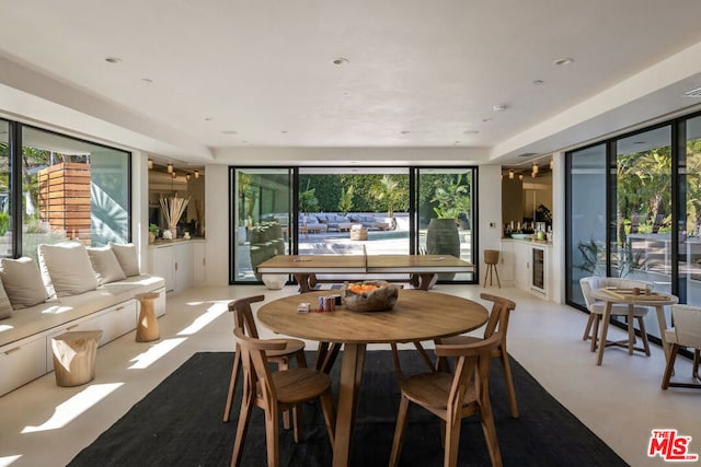
{"type": "Polygon", "coordinates": [[[698,0],[0,2],[0,113],[192,164],[514,164],[696,108],[699,17],[698,0]]]}

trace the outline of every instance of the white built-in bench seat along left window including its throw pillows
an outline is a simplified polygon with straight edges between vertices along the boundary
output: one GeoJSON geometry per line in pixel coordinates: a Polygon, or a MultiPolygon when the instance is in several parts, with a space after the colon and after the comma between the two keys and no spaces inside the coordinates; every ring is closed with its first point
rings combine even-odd
{"type": "Polygon", "coordinates": [[[133,245],[41,245],[38,264],[0,264],[0,395],[54,370],[51,337],[102,330],[102,346],[134,330],[138,293],[159,293],[156,313],[165,314],[164,281],[140,273],[133,245]]]}

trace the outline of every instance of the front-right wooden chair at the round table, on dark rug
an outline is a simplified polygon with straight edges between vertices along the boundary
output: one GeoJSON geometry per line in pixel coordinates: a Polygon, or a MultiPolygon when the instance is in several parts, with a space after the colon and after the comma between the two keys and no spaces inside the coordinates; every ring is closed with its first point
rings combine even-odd
{"type": "Polygon", "coordinates": [[[499,347],[502,336],[494,332],[474,343],[436,345],[436,355],[456,358],[453,373],[432,372],[414,375],[401,384],[402,398],[397,417],[390,467],[399,465],[409,420],[409,405],[422,406],[440,419],[444,466],[458,465],[460,424],[464,417],[479,413],[493,466],[502,465],[492,405],[490,402],[491,353],[499,347]]]}

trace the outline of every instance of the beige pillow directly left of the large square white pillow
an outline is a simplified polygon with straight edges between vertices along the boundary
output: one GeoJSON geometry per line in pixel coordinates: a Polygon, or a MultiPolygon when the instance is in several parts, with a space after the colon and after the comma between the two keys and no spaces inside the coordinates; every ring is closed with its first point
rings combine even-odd
{"type": "Polygon", "coordinates": [[[1,258],[0,278],[13,310],[27,308],[46,302],[48,294],[39,267],[32,258],[1,258]]]}

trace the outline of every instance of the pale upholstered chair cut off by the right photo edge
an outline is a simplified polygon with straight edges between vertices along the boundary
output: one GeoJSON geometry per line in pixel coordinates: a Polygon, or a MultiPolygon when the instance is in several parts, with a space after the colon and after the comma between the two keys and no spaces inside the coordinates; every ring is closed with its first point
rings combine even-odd
{"type": "Polygon", "coordinates": [[[662,380],[662,388],[693,387],[701,388],[701,377],[699,376],[699,363],[701,363],[701,307],[689,305],[671,305],[671,320],[674,327],[665,330],[667,343],[671,346],[669,359],[662,380]],[[675,371],[675,361],[680,348],[693,349],[693,366],[691,370],[692,380],[699,383],[673,382],[671,375],[675,371]]]}

